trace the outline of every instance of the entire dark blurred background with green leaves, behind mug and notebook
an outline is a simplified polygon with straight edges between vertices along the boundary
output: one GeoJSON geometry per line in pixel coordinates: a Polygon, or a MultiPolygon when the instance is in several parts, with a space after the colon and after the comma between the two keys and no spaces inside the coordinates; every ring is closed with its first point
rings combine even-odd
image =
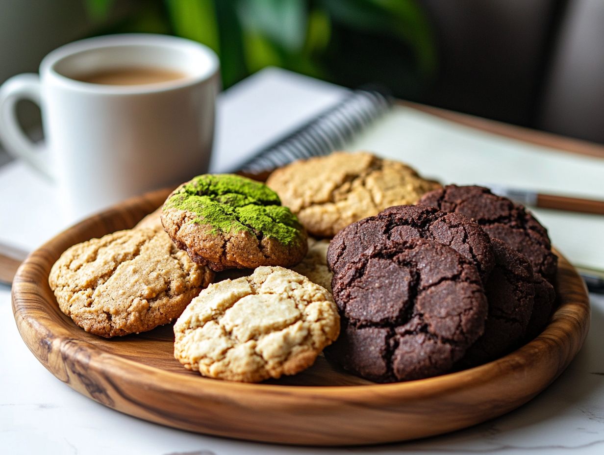
{"type": "Polygon", "coordinates": [[[0,2],[0,82],[66,42],[124,32],[207,44],[225,88],[280,66],[604,143],[602,0],[0,2]]]}

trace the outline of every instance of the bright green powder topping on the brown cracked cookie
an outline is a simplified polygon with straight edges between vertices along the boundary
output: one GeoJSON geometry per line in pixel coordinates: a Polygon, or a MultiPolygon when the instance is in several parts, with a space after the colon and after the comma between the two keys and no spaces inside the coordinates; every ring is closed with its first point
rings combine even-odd
{"type": "Polygon", "coordinates": [[[238,175],[199,175],[176,190],[165,207],[196,213],[193,222],[213,231],[248,231],[284,245],[300,242],[300,222],[277,193],[238,175]]]}

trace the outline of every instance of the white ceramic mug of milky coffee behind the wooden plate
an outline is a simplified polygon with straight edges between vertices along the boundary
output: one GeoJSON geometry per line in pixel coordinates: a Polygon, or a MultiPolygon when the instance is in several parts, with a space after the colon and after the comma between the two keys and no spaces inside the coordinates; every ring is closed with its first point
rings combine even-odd
{"type": "Polygon", "coordinates": [[[14,156],[56,182],[71,215],[207,171],[220,88],[216,54],[173,36],[121,34],[54,50],[40,76],[19,74],[0,88],[0,138],[14,156]],[[162,68],[184,77],[140,85],[73,79],[118,68],[162,68]],[[19,127],[15,105],[40,105],[48,164],[19,127]]]}

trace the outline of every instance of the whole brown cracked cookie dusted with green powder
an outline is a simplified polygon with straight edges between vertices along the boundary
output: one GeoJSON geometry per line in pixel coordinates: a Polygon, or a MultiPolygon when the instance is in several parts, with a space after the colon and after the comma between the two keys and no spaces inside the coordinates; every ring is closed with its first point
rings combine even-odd
{"type": "Polygon", "coordinates": [[[306,255],[306,231],[265,184],[200,175],[165,201],[161,222],[175,244],[215,271],[291,266],[306,255]]]}

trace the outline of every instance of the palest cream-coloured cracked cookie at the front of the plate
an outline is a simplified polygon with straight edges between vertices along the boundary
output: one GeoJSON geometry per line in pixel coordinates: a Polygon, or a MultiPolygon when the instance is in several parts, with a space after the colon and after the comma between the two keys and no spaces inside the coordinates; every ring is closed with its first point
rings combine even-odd
{"type": "Polygon", "coordinates": [[[338,337],[326,289],[281,267],[259,267],[194,298],[174,326],[175,358],[210,378],[259,382],[295,375],[338,337]]]}

